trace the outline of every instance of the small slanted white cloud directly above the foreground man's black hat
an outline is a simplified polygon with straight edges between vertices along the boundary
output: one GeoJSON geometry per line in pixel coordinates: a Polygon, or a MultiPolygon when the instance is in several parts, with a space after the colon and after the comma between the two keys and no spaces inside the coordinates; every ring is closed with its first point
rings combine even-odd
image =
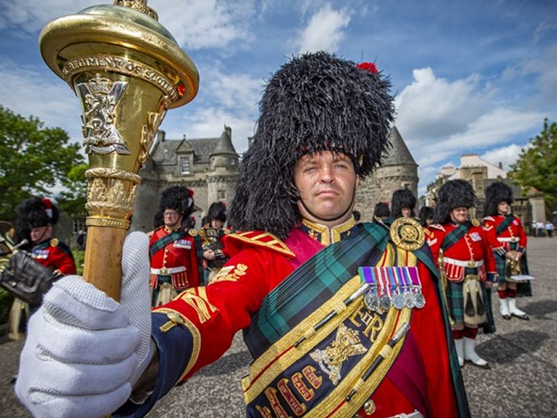
{"type": "Polygon", "coordinates": [[[306,29],[293,42],[298,47],[298,52],[336,52],[345,38],[343,29],[350,22],[350,14],[345,8],[334,10],[328,3],[317,10],[306,29]]]}

